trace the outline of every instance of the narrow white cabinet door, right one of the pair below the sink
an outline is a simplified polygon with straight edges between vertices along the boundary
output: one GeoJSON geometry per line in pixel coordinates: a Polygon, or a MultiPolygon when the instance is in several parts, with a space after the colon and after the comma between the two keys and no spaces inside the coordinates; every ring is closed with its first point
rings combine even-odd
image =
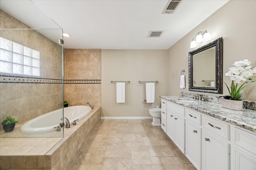
{"type": "Polygon", "coordinates": [[[179,115],[175,115],[174,122],[174,143],[185,154],[185,119],[179,115]]]}

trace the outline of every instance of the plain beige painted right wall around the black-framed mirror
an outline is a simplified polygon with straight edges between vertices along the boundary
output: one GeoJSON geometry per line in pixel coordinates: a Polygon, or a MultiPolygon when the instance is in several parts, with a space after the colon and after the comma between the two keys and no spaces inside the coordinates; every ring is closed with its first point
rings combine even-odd
{"type": "MultiPolygon", "coordinates": [[[[194,50],[190,49],[190,41],[198,31],[205,30],[211,33],[212,39],[223,37],[223,82],[228,85],[231,83],[225,73],[235,61],[248,59],[252,66],[256,66],[256,1],[230,0],[168,49],[168,95],[180,96],[180,92],[190,92],[188,89],[179,88],[180,71],[185,69],[185,81],[188,83],[188,52],[194,50]]],[[[245,88],[247,100],[256,101],[255,89],[255,82],[245,88]]],[[[225,84],[223,94],[228,95],[225,84]]]]}

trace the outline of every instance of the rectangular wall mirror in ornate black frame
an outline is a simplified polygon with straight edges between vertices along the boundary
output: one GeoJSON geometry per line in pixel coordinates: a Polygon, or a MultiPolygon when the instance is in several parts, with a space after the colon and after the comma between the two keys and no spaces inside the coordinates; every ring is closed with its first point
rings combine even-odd
{"type": "Polygon", "coordinates": [[[189,90],[222,94],[222,37],[189,55],[189,90]]]}

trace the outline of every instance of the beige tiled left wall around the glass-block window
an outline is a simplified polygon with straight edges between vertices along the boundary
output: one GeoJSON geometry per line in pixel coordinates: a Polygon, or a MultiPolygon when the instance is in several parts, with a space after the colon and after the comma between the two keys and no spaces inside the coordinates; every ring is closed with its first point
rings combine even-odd
{"type": "MultiPolygon", "coordinates": [[[[29,28],[2,10],[0,18],[1,28],[29,28]]],[[[0,83],[0,122],[12,116],[22,123],[61,108],[62,47],[33,30],[1,30],[0,36],[40,52],[40,76],[1,73],[0,81],[8,83],[0,83]],[[4,80],[3,75],[20,77],[5,77],[4,80]]]]}

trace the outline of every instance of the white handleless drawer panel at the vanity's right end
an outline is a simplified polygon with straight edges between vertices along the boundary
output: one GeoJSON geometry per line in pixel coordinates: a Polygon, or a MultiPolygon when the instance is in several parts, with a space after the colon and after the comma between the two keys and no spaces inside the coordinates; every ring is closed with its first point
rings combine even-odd
{"type": "Polygon", "coordinates": [[[256,134],[234,127],[234,143],[244,149],[256,153],[256,134]]]}

